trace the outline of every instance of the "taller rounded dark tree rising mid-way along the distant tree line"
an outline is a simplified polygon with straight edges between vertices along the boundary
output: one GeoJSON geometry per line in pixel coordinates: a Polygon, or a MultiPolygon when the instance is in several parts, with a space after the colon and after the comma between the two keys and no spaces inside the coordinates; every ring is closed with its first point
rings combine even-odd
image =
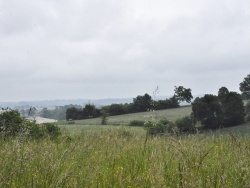
{"type": "Polygon", "coordinates": [[[152,97],[149,94],[137,96],[133,99],[136,112],[145,112],[152,109],[152,97]]]}

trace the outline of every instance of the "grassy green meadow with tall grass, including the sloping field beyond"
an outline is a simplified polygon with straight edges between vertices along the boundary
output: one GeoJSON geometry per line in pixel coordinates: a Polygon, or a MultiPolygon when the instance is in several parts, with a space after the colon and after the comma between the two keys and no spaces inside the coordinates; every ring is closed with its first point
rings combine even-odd
{"type": "MultiPolygon", "coordinates": [[[[155,115],[173,121],[190,111],[155,115]]],[[[0,187],[250,187],[250,123],[154,137],[123,126],[151,114],[109,117],[105,126],[100,119],[59,122],[57,140],[0,140],[0,187]]]]}

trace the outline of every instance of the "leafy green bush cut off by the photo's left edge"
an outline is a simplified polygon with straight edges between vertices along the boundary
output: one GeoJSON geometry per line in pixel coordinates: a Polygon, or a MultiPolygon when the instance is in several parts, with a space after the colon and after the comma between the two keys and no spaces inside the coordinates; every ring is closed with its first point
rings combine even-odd
{"type": "Polygon", "coordinates": [[[16,136],[18,133],[24,131],[24,122],[18,111],[4,109],[4,112],[0,113],[0,132],[4,136],[16,136]]]}

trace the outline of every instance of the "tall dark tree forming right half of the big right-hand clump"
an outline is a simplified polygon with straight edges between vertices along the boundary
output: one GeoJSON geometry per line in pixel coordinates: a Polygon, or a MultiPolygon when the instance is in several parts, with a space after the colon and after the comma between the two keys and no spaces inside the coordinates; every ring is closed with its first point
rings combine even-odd
{"type": "Polygon", "coordinates": [[[223,96],[219,97],[219,100],[223,115],[223,127],[234,126],[244,122],[246,114],[240,94],[236,92],[226,92],[223,96]]]}

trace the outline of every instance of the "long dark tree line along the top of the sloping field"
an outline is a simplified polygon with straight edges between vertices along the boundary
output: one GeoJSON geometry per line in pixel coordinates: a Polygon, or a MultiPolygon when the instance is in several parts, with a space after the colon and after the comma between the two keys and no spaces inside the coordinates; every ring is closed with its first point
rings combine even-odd
{"type": "Polygon", "coordinates": [[[86,104],[82,108],[70,107],[66,110],[66,119],[80,120],[100,117],[103,114],[113,116],[128,113],[146,112],[149,110],[178,108],[180,106],[180,102],[182,101],[191,102],[191,99],[193,98],[191,89],[186,89],[183,86],[175,86],[174,91],[174,95],[165,100],[153,100],[153,98],[148,93],[146,93],[133,98],[132,103],[111,104],[101,108],[97,108],[93,104],[86,104]]]}

